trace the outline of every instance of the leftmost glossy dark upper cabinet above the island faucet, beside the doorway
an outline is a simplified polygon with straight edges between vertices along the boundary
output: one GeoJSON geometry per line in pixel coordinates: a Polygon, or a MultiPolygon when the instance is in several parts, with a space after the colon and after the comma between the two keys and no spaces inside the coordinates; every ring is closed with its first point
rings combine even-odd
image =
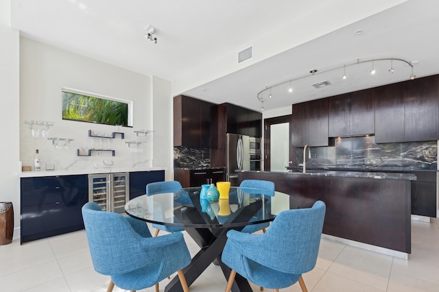
{"type": "Polygon", "coordinates": [[[293,104],[292,146],[328,146],[328,99],[293,104]]]}

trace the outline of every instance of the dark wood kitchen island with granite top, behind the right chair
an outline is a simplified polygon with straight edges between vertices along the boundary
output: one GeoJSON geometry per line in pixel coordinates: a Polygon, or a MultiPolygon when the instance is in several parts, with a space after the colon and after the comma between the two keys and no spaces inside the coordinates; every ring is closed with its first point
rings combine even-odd
{"type": "Polygon", "coordinates": [[[242,180],[270,180],[309,208],[327,204],[323,233],[378,247],[377,251],[407,258],[411,252],[410,173],[357,171],[274,172],[242,171],[242,180]]]}

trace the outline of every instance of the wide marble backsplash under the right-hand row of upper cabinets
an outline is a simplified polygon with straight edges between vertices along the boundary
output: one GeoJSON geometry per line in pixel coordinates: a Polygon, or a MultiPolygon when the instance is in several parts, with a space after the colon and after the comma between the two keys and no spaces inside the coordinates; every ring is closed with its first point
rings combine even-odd
{"type": "MultiPolygon", "coordinates": [[[[311,147],[307,166],[318,167],[410,167],[436,170],[437,141],[376,144],[375,136],[336,138],[334,146],[311,147]]],[[[296,149],[296,161],[303,161],[303,148],[296,149]]]]}

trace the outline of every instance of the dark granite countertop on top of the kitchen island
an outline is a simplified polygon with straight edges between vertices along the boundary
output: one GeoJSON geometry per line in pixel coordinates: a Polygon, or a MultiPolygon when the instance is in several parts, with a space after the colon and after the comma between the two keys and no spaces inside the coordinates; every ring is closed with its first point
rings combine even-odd
{"type": "Polygon", "coordinates": [[[383,172],[371,172],[371,171],[329,171],[329,170],[316,170],[307,169],[306,173],[302,171],[255,171],[255,172],[268,172],[279,173],[285,175],[311,175],[311,176],[337,176],[341,178],[372,178],[380,180],[416,180],[416,175],[413,173],[383,173],[383,172]]]}

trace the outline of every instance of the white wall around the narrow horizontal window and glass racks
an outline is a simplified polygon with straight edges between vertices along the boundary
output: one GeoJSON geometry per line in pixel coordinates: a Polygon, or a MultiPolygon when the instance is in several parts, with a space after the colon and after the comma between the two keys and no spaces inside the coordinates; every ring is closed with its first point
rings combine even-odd
{"type": "Polygon", "coordinates": [[[151,138],[143,144],[141,153],[130,151],[126,143],[138,139],[134,130],[152,130],[152,77],[27,38],[21,38],[20,50],[20,158],[23,165],[33,164],[35,149],[40,151],[43,168],[45,162],[52,162],[56,169],[105,169],[104,160],[112,160],[113,168],[152,165],[151,138]],[[62,88],[132,101],[133,127],[62,120],[62,88]],[[33,138],[24,123],[26,120],[53,121],[55,125],[50,128],[49,136],[73,138],[71,149],[56,149],[47,138],[33,138]],[[77,149],[91,148],[88,130],[108,133],[121,130],[126,136],[125,140],[120,136],[111,140],[110,147],[116,151],[114,157],[110,152],[78,157],[77,149]]]}

